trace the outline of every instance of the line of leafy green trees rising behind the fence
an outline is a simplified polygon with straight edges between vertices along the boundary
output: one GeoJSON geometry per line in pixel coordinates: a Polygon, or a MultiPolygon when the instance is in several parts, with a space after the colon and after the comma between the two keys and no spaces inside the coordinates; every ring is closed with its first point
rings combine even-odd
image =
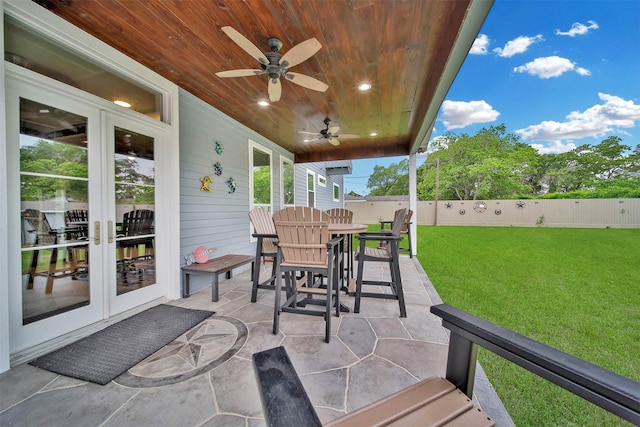
{"type": "MultiPolygon", "coordinates": [[[[566,153],[540,154],[504,125],[448,133],[417,168],[419,200],[640,197],[640,145],[609,136],[566,153]]],[[[370,196],[409,194],[409,161],[376,166],[370,196]]]]}

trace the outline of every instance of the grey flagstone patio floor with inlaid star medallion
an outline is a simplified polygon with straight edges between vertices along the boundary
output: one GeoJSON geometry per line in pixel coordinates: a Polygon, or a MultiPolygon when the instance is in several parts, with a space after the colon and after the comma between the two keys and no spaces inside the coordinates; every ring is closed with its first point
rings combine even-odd
{"type": "MultiPolygon", "coordinates": [[[[270,264],[261,266],[267,276],[270,264]]],[[[264,426],[251,355],[284,346],[323,422],[432,375],[444,376],[448,336],[429,312],[440,301],[415,259],[403,256],[407,317],[397,301],[364,298],[359,314],[324,320],[283,313],[272,333],[274,293],[250,302],[250,271],[168,301],[215,315],[105,386],[29,364],[0,375],[0,426],[264,426]]],[[[367,266],[366,277],[388,277],[388,267],[367,266]]],[[[353,308],[353,297],[340,301],[353,308]]],[[[498,425],[512,425],[480,371],[476,391],[498,425]]]]}

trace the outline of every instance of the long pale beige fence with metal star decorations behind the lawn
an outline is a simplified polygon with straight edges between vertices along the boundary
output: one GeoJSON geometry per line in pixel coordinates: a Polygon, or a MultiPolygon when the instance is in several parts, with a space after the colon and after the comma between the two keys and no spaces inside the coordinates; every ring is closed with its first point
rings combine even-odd
{"type": "MultiPolygon", "coordinates": [[[[346,201],[353,221],[392,220],[409,200],[346,201]]],[[[640,228],[640,199],[444,200],[418,202],[418,225],[516,227],[640,228]]]]}

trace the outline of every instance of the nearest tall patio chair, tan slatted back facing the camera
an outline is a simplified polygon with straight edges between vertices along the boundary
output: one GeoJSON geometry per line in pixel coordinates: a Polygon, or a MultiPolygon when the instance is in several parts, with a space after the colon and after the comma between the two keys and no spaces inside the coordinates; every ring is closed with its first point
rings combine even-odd
{"type": "Polygon", "coordinates": [[[342,238],[331,238],[329,216],[314,208],[286,208],[276,212],[273,221],[278,233],[273,333],[278,333],[281,312],[322,316],[325,320],[325,342],[328,343],[334,305],[336,316],[340,316],[337,265],[342,238]],[[296,272],[306,275],[296,279],[296,272]],[[282,274],[285,275],[287,295],[283,304],[280,303],[282,274]],[[323,278],[326,278],[326,285],[323,278]],[[306,298],[300,300],[301,294],[306,298]],[[324,300],[314,299],[315,295],[322,295],[324,300]],[[323,305],[324,310],[307,307],[316,304],[323,305]]]}

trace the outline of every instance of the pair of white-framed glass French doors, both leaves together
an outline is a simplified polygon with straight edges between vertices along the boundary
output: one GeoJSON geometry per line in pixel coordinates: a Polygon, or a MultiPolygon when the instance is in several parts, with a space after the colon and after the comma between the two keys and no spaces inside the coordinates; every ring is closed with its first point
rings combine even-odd
{"type": "Polygon", "coordinates": [[[162,125],[26,70],[7,73],[6,112],[11,351],[163,296],[154,228],[162,125]],[[124,223],[140,211],[151,216],[146,228],[124,223]]]}

